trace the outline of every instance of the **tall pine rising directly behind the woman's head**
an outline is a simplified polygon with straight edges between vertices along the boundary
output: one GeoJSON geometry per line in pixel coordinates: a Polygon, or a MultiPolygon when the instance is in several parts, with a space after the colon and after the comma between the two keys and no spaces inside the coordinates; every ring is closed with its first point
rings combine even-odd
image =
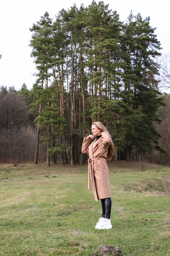
{"type": "MultiPolygon", "coordinates": [[[[88,65],[91,67],[91,92],[92,92],[92,117],[93,121],[102,119],[102,104],[108,97],[112,97],[111,90],[115,85],[119,55],[118,39],[120,36],[119,15],[111,13],[108,5],[103,2],[92,2],[88,8],[89,30],[89,58],[88,65]],[[102,99],[102,96],[105,96],[102,99]]],[[[90,93],[91,93],[90,92],[90,93]]]]}

